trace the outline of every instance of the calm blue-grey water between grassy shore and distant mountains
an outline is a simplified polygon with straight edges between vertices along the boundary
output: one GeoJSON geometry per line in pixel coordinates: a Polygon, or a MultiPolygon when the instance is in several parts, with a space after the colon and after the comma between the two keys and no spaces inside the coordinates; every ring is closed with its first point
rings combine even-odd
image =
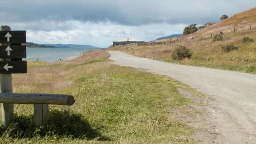
{"type": "Polygon", "coordinates": [[[86,51],[99,48],[27,48],[27,61],[58,61],[72,59],[86,51]]]}

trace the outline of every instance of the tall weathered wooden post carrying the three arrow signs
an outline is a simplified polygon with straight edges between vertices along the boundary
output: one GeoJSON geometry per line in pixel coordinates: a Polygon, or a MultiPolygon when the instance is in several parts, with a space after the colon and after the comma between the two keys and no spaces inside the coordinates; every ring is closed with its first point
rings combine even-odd
{"type": "MultiPolygon", "coordinates": [[[[1,31],[11,30],[11,27],[1,26],[1,31]]],[[[5,59],[10,61],[11,59],[5,59]]],[[[0,59],[4,61],[4,59],[0,59]]],[[[0,74],[0,83],[2,93],[13,93],[11,74],[0,74]]],[[[10,125],[10,120],[13,118],[13,104],[2,104],[2,123],[5,126],[10,125]]]]}

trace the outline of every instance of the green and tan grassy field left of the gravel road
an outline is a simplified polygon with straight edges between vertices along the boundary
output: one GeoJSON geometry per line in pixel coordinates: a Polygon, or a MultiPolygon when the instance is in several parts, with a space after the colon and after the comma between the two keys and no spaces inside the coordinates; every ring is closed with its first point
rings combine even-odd
{"type": "Polygon", "coordinates": [[[13,75],[14,93],[70,94],[76,102],[50,105],[46,129],[32,125],[32,105],[15,104],[14,123],[0,127],[0,143],[195,143],[190,138],[194,129],[171,114],[193,104],[177,88],[193,89],[168,77],[113,65],[107,52],[91,53],[83,57],[86,61],[28,62],[27,74],[13,75]]]}

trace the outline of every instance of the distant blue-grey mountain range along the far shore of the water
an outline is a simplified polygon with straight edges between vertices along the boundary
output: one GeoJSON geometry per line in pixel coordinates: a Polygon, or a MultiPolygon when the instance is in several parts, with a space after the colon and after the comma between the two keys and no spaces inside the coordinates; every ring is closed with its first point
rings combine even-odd
{"type": "Polygon", "coordinates": [[[27,47],[30,48],[97,48],[92,45],[74,45],[74,44],[37,44],[37,43],[26,43],[27,47]]]}

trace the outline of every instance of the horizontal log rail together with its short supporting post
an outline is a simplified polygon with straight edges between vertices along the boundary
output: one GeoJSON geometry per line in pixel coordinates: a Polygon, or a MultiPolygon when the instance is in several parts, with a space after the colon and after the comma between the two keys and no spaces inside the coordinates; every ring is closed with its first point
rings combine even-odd
{"type": "Polygon", "coordinates": [[[0,93],[0,103],[34,104],[34,123],[36,127],[48,125],[48,104],[68,105],[75,103],[73,96],[43,93],[0,93]]]}

